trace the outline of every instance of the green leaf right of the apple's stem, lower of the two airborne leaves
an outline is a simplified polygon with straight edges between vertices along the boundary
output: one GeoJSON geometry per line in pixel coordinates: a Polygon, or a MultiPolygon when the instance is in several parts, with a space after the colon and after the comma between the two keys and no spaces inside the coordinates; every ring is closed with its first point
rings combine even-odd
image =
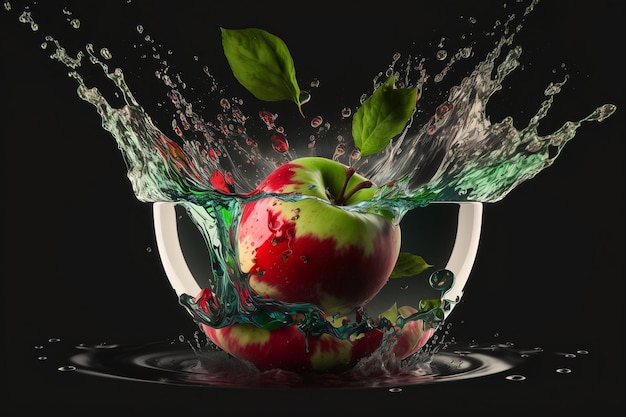
{"type": "Polygon", "coordinates": [[[402,132],[417,101],[417,88],[395,88],[391,76],[363,102],[352,119],[354,144],[362,156],[372,155],[402,132]]]}

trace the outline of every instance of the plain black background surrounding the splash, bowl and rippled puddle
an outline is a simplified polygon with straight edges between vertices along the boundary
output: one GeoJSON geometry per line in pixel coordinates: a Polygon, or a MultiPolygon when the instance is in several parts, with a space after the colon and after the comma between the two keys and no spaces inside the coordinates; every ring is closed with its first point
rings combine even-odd
{"type": "MultiPolygon", "coordinates": [[[[34,13],[41,25],[37,32],[18,22],[23,6],[17,2],[11,12],[2,11],[3,415],[623,412],[625,118],[620,62],[626,13],[621,1],[541,2],[516,38],[523,47],[524,69],[515,71],[492,99],[492,120],[512,115],[523,126],[536,112],[544,87],[562,79],[562,63],[571,79],[542,123],[543,133],[604,103],[616,104],[618,110],[602,123],[584,124],[552,167],[485,206],[472,279],[452,320],[459,341],[513,342],[549,352],[588,350],[589,355],[573,362],[571,374],[557,378],[558,364],[549,362],[535,363],[527,370],[535,377],[523,383],[496,376],[404,387],[396,394],[386,388],[247,390],[60,373],[55,369],[64,364],[63,352],[48,352],[48,361],[36,359],[33,346],[47,345],[52,337],[70,344],[142,343],[196,330],[165,279],[150,205],[134,198],[114,141],[100,128],[92,107],[77,98],[67,69],[39,46],[47,28],[50,34],[56,34],[53,28],[61,34],[70,31],[61,13],[64,6],[81,19],[84,40],[78,47],[94,39],[101,42],[97,48],[108,46],[114,54],[125,50],[118,56],[129,58],[116,65],[129,68],[129,83],[141,102],[151,97],[162,101],[165,90],[158,90],[152,70],[133,61],[138,23],[164,50],[175,51],[174,62],[193,55],[207,61],[221,57],[219,26],[262,27],[293,45],[295,62],[306,68],[301,72],[348,94],[341,82],[349,78],[369,87],[394,48],[420,51],[423,42],[434,51],[441,37],[458,40],[469,33],[468,17],[478,19],[478,32],[507,13],[500,2],[230,3],[46,2],[34,13]],[[56,26],[46,26],[55,21],[56,26]]],[[[487,43],[485,50],[490,47],[487,43]]]]}

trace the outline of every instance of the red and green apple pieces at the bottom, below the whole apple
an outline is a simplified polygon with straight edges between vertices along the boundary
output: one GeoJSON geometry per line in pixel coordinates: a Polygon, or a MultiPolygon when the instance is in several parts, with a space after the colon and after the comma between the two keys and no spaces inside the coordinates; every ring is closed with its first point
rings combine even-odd
{"type": "MultiPolygon", "coordinates": [[[[408,317],[417,310],[410,306],[397,309],[408,317]]],[[[389,317],[388,315],[386,317],[389,317]]],[[[224,351],[236,358],[253,363],[260,371],[283,369],[294,372],[340,372],[353,368],[361,359],[372,355],[383,339],[380,329],[363,333],[354,339],[339,339],[330,334],[308,337],[296,326],[273,330],[239,323],[223,328],[200,324],[202,331],[224,351]]],[[[417,352],[433,335],[434,329],[424,329],[422,320],[411,321],[397,329],[397,343],[383,358],[402,360],[417,352]]]]}

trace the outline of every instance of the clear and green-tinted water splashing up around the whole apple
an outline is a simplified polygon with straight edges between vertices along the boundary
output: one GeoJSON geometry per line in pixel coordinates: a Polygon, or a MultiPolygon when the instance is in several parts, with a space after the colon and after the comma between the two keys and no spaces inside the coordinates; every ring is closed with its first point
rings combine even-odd
{"type": "MultiPolygon", "coordinates": [[[[11,10],[8,5],[5,2],[7,11],[11,10]]],[[[535,5],[536,2],[531,3],[525,13],[530,13],[535,5]]],[[[33,31],[40,29],[29,11],[25,10],[19,19],[33,31]]],[[[111,70],[106,64],[114,51],[102,48],[98,56],[93,45],[87,44],[84,51],[72,55],[59,40],[49,35],[45,36],[42,47],[53,48],[50,57],[70,70],[78,84],[78,96],[95,107],[102,118],[102,127],[116,140],[136,197],[147,203],[174,202],[185,207],[205,239],[214,264],[210,288],[201,294],[185,294],[180,299],[198,323],[215,328],[234,323],[264,327],[268,321],[278,320],[285,326],[297,325],[307,335],[330,333],[347,339],[355,333],[387,328],[390,323],[372,320],[363,307],[358,319],[335,327],[316,305],[287,304],[255,296],[246,274],[236,262],[231,262],[238,259],[230,236],[236,235],[242,207],[252,200],[269,197],[263,193],[252,194],[252,191],[277,166],[303,155],[344,162],[376,184],[382,184],[373,201],[351,209],[388,210],[395,214],[396,222],[401,222],[410,210],[433,202],[488,203],[504,198],[521,182],[550,166],[582,123],[600,122],[616,109],[611,104],[600,106],[581,120],[568,121],[551,134],[540,136],[539,124],[567,82],[565,77],[546,87],[545,100],[526,127],[516,129],[511,117],[491,123],[486,112],[489,99],[520,65],[521,48],[514,45],[513,40],[521,26],[510,31],[512,21],[507,23],[493,50],[458,85],[450,88],[442,102],[429,109],[427,123],[420,125],[415,117],[387,149],[363,158],[349,135],[334,128],[329,121],[332,118],[316,115],[305,120],[303,123],[314,129],[313,133],[307,134],[304,140],[291,138],[280,125],[278,114],[266,109],[256,109],[250,114],[244,110],[243,100],[225,98],[205,67],[204,72],[212,82],[216,108],[221,111],[215,120],[207,120],[196,110],[199,106],[185,96],[182,77],[171,74],[163,61],[164,67],[155,76],[168,88],[175,109],[171,126],[174,135],[168,135],[155,125],[131,93],[123,70],[111,70]],[[98,88],[87,85],[83,79],[85,60],[102,70],[121,95],[124,105],[112,105],[98,88]],[[255,133],[255,122],[265,129],[264,135],[255,133]],[[333,135],[336,138],[333,146],[327,149],[317,145],[321,138],[333,135]],[[296,143],[305,146],[301,149],[294,146],[296,143]],[[296,316],[304,318],[296,322],[293,319],[296,316]]],[[[80,26],[78,20],[72,20],[71,24],[75,28],[80,26]]],[[[137,33],[145,39],[148,37],[141,26],[137,26],[137,33]]],[[[398,74],[400,87],[417,85],[424,94],[426,85],[441,82],[449,68],[470,53],[468,48],[461,49],[452,58],[438,53],[437,59],[449,59],[449,63],[432,81],[421,61],[409,57],[403,63],[398,54],[393,56],[384,75],[398,74]],[[411,82],[413,78],[417,80],[411,82]]],[[[382,75],[373,80],[374,88],[381,84],[382,75]]],[[[311,87],[319,83],[316,79],[311,87]]],[[[311,95],[304,94],[302,102],[311,95]]],[[[351,114],[349,107],[345,107],[340,116],[349,118],[351,114]]],[[[300,195],[273,197],[307,198],[300,195]]],[[[448,271],[437,271],[431,276],[432,287],[440,292],[440,302],[423,303],[418,313],[399,318],[393,324],[402,327],[408,322],[423,320],[437,328],[450,305],[458,301],[446,298],[454,278],[449,275],[448,271]]]]}

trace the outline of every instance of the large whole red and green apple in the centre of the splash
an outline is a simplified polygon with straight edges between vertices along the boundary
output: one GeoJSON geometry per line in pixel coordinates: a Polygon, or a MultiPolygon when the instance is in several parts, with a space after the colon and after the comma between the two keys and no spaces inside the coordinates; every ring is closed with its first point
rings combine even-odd
{"type": "Polygon", "coordinates": [[[321,157],[293,160],[270,173],[256,191],[317,199],[267,197],[244,205],[239,264],[258,295],[313,303],[330,317],[365,305],[385,285],[400,252],[400,226],[384,212],[345,209],[370,200],[374,187],[356,191],[341,202],[344,207],[330,203],[327,190],[339,196],[342,187],[349,192],[368,182],[359,174],[347,175],[348,169],[321,157]]]}

